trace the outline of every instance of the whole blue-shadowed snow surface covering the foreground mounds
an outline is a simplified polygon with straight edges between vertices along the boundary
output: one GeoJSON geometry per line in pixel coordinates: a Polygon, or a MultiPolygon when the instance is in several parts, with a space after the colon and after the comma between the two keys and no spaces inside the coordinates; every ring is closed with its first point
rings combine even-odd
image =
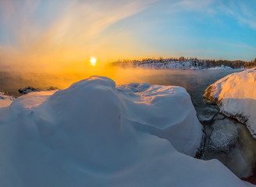
{"type": "Polygon", "coordinates": [[[201,135],[183,88],[91,76],[1,109],[0,186],[251,186],[186,155],[201,135]]]}

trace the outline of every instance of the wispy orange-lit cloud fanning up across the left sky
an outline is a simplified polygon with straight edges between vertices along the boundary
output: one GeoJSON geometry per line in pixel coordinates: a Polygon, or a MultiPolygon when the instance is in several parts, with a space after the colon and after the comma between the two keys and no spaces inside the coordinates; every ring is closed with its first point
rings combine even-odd
{"type": "MultiPolygon", "coordinates": [[[[101,48],[102,42],[109,41],[109,36],[104,34],[108,27],[154,2],[156,0],[2,0],[0,23],[12,41],[8,48],[0,48],[1,63],[57,68],[79,62],[101,48]],[[58,9],[59,6],[62,9],[58,9]],[[40,19],[43,16],[48,17],[47,22],[40,19]]],[[[106,51],[107,48],[103,53],[106,51]]]]}

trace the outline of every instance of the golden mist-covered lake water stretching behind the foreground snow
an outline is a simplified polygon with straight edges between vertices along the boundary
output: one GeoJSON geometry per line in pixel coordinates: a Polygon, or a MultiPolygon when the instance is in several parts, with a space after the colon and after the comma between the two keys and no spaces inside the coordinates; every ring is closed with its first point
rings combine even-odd
{"type": "MultiPolygon", "coordinates": [[[[19,96],[18,90],[26,86],[45,89],[55,86],[64,89],[89,76],[107,76],[116,84],[149,83],[183,86],[192,101],[202,103],[202,94],[211,83],[240,70],[152,70],[152,69],[94,69],[90,72],[0,72],[0,90],[19,96]]],[[[196,106],[197,107],[197,106],[196,106]]]]}

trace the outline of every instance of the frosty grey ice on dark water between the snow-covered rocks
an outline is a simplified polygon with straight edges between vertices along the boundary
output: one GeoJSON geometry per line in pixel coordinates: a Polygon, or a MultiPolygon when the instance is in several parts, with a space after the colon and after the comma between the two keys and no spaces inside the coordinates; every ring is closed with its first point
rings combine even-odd
{"type": "Polygon", "coordinates": [[[243,136],[247,131],[244,125],[230,118],[221,117],[215,119],[212,125],[205,126],[206,136],[201,159],[218,159],[236,176],[247,178],[252,174],[255,161],[251,155],[254,155],[254,146],[248,146],[252,143],[251,140],[255,139],[243,136]]]}

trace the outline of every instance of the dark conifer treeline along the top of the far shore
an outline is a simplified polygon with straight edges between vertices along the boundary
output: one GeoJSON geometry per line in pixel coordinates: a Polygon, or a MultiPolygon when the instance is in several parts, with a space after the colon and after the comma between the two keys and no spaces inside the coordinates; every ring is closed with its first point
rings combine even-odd
{"type": "Polygon", "coordinates": [[[215,60],[215,59],[198,59],[192,57],[179,57],[179,58],[143,58],[141,60],[124,59],[117,62],[113,62],[113,66],[121,67],[137,67],[143,64],[166,64],[169,62],[186,62],[189,61],[194,67],[202,67],[204,69],[214,68],[221,65],[229,66],[232,69],[250,69],[256,67],[256,58],[251,62],[245,62],[240,60],[229,61],[229,60],[215,60]]]}

